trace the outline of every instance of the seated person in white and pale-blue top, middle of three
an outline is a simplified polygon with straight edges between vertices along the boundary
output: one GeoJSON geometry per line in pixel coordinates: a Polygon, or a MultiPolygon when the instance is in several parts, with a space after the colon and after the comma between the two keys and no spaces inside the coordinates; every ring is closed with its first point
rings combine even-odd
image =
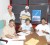
{"type": "Polygon", "coordinates": [[[21,24],[20,28],[19,28],[19,31],[22,31],[24,33],[31,33],[33,30],[32,28],[32,24],[30,23],[30,20],[29,19],[26,19],[25,23],[24,24],[21,24]]]}

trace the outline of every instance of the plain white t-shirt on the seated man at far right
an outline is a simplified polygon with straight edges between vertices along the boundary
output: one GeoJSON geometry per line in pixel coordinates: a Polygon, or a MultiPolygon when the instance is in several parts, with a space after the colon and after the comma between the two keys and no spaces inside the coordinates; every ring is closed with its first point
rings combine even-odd
{"type": "Polygon", "coordinates": [[[37,34],[38,34],[39,36],[46,35],[45,33],[42,32],[42,30],[44,30],[44,31],[50,33],[50,29],[49,29],[49,26],[48,26],[47,24],[45,24],[45,25],[39,24],[39,25],[36,26],[35,29],[36,29],[36,30],[39,30],[39,31],[37,32],[37,34]]]}

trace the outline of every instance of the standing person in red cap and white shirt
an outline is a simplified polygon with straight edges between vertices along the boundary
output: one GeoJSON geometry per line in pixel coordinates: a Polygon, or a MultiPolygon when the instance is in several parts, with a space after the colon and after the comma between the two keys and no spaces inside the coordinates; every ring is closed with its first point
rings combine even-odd
{"type": "Polygon", "coordinates": [[[3,16],[3,19],[5,20],[5,25],[8,25],[11,19],[15,20],[11,5],[8,6],[8,12],[3,16]]]}

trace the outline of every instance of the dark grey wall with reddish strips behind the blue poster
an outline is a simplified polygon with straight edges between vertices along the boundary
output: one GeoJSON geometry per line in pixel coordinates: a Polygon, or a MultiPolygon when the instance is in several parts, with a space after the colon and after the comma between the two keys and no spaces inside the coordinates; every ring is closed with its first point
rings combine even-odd
{"type": "MultiPolygon", "coordinates": [[[[16,17],[16,23],[20,23],[20,12],[25,9],[25,6],[29,4],[29,11],[32,15],[32,10],[41,10],[41,18],[47,17],[48,0],[12,0],[13,12],[16,17]]],[[[47,19],[47,18],[46,18],[47,19]]]]}

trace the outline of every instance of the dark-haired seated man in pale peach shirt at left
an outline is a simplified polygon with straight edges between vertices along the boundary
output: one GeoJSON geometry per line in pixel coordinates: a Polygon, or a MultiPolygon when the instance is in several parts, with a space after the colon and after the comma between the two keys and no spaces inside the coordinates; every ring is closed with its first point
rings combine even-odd
{"type": "Polygon", "coordinates": [[[3,38],[14,38],[15,37],[15,21],[12,19],[9,21],[9,25],[3,29],[3,38]]]}

